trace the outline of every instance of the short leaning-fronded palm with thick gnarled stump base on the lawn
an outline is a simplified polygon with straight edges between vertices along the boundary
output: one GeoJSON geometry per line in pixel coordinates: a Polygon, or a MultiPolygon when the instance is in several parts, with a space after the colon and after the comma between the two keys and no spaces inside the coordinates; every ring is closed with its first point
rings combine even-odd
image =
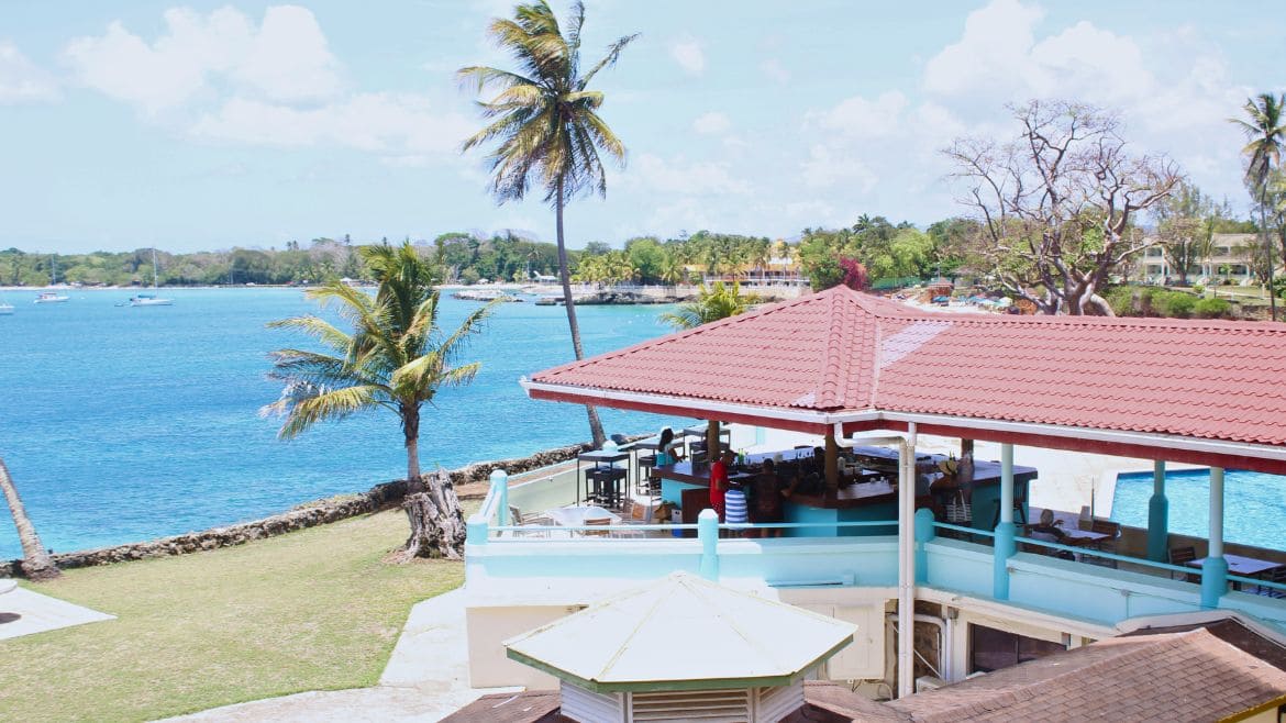
{"type": "Polygon", "coordinates": [[[269,378],[284,383],[282,398],[262,408],[284,417],[278,436],[293,439],[322,421],[358,412],[387,409],[397,416],[406,449],[408,517],[412,536],[403,558],[459,558],[464,517],[450,480],[421,476],[421,410],[442,387],[469,383],[477,362],[458,364],[469,336],[480,331],[491,302],[469,314],[454,332],[437,327],[440,269],[410,243],[361,250],[379,288],[374,297],[338,282],[309,289],[307,298],[332,307],[351,324],[345,331],[322,318],[292,316],[269,327],[291,329],[318,341],[327,351],[280,349],[270,354],[269,378]]]}

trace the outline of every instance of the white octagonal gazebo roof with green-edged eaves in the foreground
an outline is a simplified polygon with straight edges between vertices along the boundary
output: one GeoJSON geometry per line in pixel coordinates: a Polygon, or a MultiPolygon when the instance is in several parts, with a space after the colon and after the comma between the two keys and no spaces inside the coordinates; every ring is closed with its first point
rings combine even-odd
{"type": "Polygon", "coordinates": [[[508,656],[594,692],[787,686],[856,625],[675,572],[505,642],[508,656]]]}

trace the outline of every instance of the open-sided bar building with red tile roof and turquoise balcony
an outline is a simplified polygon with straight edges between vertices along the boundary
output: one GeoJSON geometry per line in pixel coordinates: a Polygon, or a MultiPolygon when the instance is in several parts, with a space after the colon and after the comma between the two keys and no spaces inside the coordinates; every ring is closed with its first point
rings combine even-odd
{"type": "MultiPolygon", "coordinates": [[[[513,489],[498,472],[468,527],[472,684],[552,687],[502,642],[679,570],[856,624],[820,675],[871,696],[1211,611],[1281,634],[1286,553],[1231,553],[1223,470],[1286,473],[1283,378],[1286,324],[940,314],[842,287],[535,373],[532,399],[706,419],[710,449],[720,423],[824,436],[824,484],[788,500],[783,536],[750,538],[709,511],[667,526],[532,522],[588,491],[583,470],[513,489]],[[979,464],[968,521],[935,520],[917,495],[930,434],[1001,445],[979,464]],[[1016,445],[1155,461],[1148,529],[1087,529],[1110,543],[1093,551],[1022,536],[1039,470],[1015,467],[1016,445]],[[836,461],[853,446],[887,479],[844,485],[836,461]],[[1166,462],[1210,470],[1191,562],[1170,562],[1166,462]]],[[[662,497],[700,498],[701,470],[682,472],[664,472],[662,497]]]]}

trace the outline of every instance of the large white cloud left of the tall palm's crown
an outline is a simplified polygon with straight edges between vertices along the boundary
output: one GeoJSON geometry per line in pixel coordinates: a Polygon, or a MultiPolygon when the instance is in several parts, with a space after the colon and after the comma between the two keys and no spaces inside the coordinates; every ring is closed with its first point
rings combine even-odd
{"type": "Polygon", "coordinates": [[[352,148],[414,166],[454,156],[473,130],[427,95],[346,93],[316,18],[294,5],[269,8],[257,27],[233,8],[171,9],[153,42],[114,22],[64,58],[84,85],[199,140],[352,148]]]}

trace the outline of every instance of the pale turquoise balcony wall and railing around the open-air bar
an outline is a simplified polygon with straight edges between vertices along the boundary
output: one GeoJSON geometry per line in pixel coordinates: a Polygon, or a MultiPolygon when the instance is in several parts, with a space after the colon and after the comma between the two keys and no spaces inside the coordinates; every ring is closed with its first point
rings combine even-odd
{"type": "MultiPolygon", "coordinates": [[[[494,480],[495,482],[495,480],[494,480]]],[[[507,484],[494,484],[469,518],[468,583],[552,579],[653,579],[687,570],[711,579],[751,579],[772,587],[898,584],[895,520],[783,522],[775,525],[513,525],[507,484]],[[770,529],[826,536],[764,538],[770,529]],[[845,530],[873,534],[841,535],[845,530]],[[694,536],[674,536],[694,535],[694,536]]],[[[923,511],[927,512],[927,511],[923,511]]],[[[1200,571],[1085,547],[1017,538],[1019,551],[998,557],[995,533],[916,518],[917,585],[980,599],[1114,625],[1129,618],[1201,610],[1200,571]],[[1051,554],[1053,553],[1053,554],[1051,554]],[[1074,557],[1060,558],[1057,553],[1074,557]],[[1004,593],[998,580],[1004,581],[1004,593]]],[[[1218,607],[1286,629],[1286,585],[1229,575],[1218,607]]]]}

